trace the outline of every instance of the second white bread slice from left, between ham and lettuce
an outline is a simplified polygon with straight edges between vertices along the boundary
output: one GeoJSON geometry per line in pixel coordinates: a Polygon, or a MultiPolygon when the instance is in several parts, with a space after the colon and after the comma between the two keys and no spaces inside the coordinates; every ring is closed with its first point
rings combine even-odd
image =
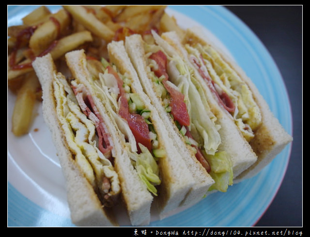
{"type": "MultiPolygon", "coordinates": [[[[71,51],[65,55],[66,62],[70,68],[73,77],[78,82],[84,84],[89,91],[92,91],[89,79],[91,77],[86,66],[86,55],[83,50],[71,51]]],[[[106,125],[111,131],[113,141],[115,141],[115,169],[119,175],[122,197],[126,204],[128,216],[132,225],[145,225],[150,222],[150,208],[153,201],[153,197],[146,189],[142,181],[140,180],[137,171],[131,164],[130,158],[120,144],[124,144],[124,137],[119,135],[119,130],[115,127],[114,123],[110,120],[112,117],[109,111],[105,109],[103,103],[94,94],[93,100],[99,109],[100,114],[103,116],[106,125]]]]}

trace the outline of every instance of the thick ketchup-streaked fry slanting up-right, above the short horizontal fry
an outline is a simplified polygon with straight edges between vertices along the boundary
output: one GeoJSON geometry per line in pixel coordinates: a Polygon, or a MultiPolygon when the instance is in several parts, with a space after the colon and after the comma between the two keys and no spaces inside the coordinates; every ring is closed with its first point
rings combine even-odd
{"type": "Polygon", "coordinates": [[[29,47],[35,55],[39,55],[42,51],[45,51],[70,23],[70,17],[63,9],[51,17],[53,18],[50,18],[35,30],[29,40],[29,47]],[[56,19],[56,22],[53,19],[56,19]]]}

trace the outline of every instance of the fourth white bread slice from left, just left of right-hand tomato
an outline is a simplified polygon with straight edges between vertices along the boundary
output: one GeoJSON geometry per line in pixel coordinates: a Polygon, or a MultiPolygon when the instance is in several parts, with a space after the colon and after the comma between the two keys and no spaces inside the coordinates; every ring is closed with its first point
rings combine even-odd
{"type": "Polygon", "coordinates": [[[142,37],[139,34],[134,34],[126,37],[125,41],[126,51],[131,59],[133,66],[139,75],[140,83],[144,89],[144,92],[149,96],[153,106],[158,111],[158,114],[162,120],[164,127],[168,131],[168,136],[177,151],[182,155],[186,167],[190,172],[190,175],[195,180],[195,184],[191,187],[187,193],[186,198],[183,200],[182,205],[191,205],[197,203],[207,192],[208,188],[214,184],[214,180],[202,167],[199,161],[195,157],[195,153],[186,145],[183,136],[175,126],[171,116],[166,112],[162,105],[160,98],[157,98],[153,83],[148,78],[147,65],[145,61],[145,52],[142,37]]]}

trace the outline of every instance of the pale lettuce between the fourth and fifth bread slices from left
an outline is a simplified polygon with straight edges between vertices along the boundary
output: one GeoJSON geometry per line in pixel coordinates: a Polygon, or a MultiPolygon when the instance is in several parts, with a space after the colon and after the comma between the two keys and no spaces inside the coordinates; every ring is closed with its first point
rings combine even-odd
{"type": "MultiPolygon", "coordinates": [[[[221,138],[218,133],[220,125],[216,123],[216,116],[212,113],[202,86],[194,76],[192,68],[176,53],[171,46],[159,35],[153,33],[160,50],[164,51],[168,58],[168,74],[171,83],[185,96],[187,111],[190,117],[189,130],[194,140],[186,139],[188,144],[201,148],[206,160],[211,166],[210,175],[215,184],[210,190],[217,189],[225,192],[229,185],[233,184],[233,164],[225,151],[218,151],[221,138]]],[[[149,50],[156,48],[149,47],[149,50]]],[[[178,126],[178,124],[176,123],[178,126]]],[[[181,134],[185,130],[178,126],[181,134]]],[[[186,136],[185,136],[186,137],[186,136]]]]}

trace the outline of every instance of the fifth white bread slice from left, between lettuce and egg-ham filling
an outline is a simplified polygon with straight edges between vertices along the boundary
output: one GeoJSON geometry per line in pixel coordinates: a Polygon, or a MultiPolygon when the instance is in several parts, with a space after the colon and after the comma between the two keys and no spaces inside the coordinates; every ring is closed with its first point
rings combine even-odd
{"type": "Polygon", "coordinates": [[[195,79],[200,83],[210,109],[217,117],[217,124],[221,126],[221,129],[218,131],[221,137],[221,144],[218,149],[220,151],[226,151],[230,156],[233,162],[233,176],[234,178],[237,177],[241,172],[256,162],[256,154],[252,151],[252,148],[244,139],[233,120],[227,115],[226,110],[218,105],[216,98],[204,83],[198,71],[189,62],[187,51],[183,47],[178,35],[175,32],[167,32],[162,34],[161,37],[181,55],[189,67],[194,69],[195,79]]]}

